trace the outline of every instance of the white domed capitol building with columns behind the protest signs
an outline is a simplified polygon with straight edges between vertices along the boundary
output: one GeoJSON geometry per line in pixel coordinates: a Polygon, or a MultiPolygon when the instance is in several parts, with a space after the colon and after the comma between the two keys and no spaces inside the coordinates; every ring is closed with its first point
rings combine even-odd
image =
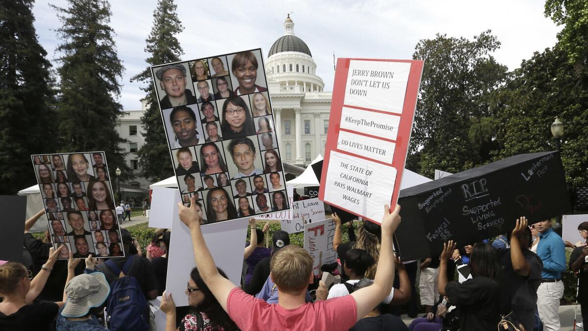
{"type": "MultiPolygon", "coordinates": [[[[316,75],[316,63],[306,43],[294,35],[290,15],[284,21],[284,35],[269,49],[265,60],[268,90],[280,153],[285,163],[306,166],[316,155],[325,153],[330,104],[333,92],[325,92],[325,83],[316,75]]],[[[126,152],[126,163],[136,172],[132,186],[149,188],[149,182],[139,177],[136,150],[145,142],[141,117],[146,110],[125,110],[119,121],[118,132],[129,140],[121,146],[126,152]]]]}

